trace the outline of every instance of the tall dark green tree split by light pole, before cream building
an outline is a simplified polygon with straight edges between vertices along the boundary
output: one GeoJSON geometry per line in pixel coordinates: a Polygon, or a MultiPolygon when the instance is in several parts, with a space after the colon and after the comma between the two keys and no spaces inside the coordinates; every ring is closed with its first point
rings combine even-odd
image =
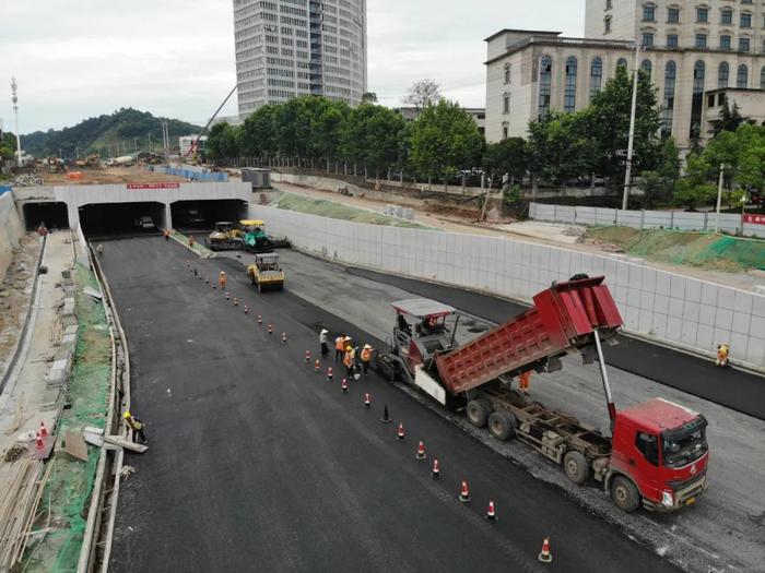
{"type": "MultiPolygon", "coordinates": [[[[584,110],[587,133],[598,146],[598,160],[592,170],[613,182],[624,179],[624,157],[617,152],[626,150],[628,144],[632,93],[633,77],[625,67],[619,67],[616,75],[605,83],[592,98],[590,107],[584,110]]],[[[661,114],[656,94],[648,74],[640,72],[633,156],[633,172],[636,174],[656,169],[661,157],[658,136],[661,114]]]]}

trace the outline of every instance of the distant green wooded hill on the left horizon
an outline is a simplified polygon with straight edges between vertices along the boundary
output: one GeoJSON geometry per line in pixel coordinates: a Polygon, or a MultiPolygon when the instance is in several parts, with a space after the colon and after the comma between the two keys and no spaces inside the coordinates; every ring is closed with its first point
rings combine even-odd
{"type": "MultiPolygon", "coordinates": [[[[102,156],[128,155],[136,151],[162,151],[162,121],[149,111],[122,108],[110,116],[98,116],[81,121],[72,128],[62,130],[35,131],[22,135],[22,148],[35,157],[58,156],[59,150],[64,158],[99,153],[102,156]]],[[[193,135],[202,128],[177,119],[167,119],[170,146],[178,146],[180,135],[193,135]]]]}

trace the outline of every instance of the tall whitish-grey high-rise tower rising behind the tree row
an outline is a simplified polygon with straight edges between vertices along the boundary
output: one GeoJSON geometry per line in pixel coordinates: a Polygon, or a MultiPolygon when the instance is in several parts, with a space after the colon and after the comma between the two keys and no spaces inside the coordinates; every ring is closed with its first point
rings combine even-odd
{"type": "Polygon", "coordinates": [[[366,0],[234,0],[238,111],[366,92],[366,0]]]}

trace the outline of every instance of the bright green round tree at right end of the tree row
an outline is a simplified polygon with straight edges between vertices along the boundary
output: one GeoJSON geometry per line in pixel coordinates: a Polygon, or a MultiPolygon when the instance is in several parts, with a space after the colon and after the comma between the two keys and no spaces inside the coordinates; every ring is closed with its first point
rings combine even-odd
{"type": "Polygon", "coordinates": [[[457,103],[427,105],[412,123],[410,162],[423,178],[448,182],[460,169],[479,165],[483,136],[457,103]]]}

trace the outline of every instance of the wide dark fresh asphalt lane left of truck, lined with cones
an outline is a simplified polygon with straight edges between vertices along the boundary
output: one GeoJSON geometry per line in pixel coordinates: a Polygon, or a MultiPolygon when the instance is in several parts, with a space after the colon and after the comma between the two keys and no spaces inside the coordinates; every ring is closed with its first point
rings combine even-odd
{"type": "MultiPolygon", "coordinates": [[[[126,459],[137,473],[121,489],[114,571],[674,571],[387,382],[373,375],[344,394],[340,368],[330,383],[305,363],[321,326],[357,329],[242,276],[234,307],[188,256],[145,238],[111,242],[102,260],[150,439],[126,459]],[[384,404],[391,425],[379,421],[384,404]],[[414,457],[419,440],[427,461],[414,457]],[[462,479],[469,504],[457,500],[462,479]],[[544,536],[551,565],[537,559],[544,536]]],[[[221,267],[195,263],[211,278],[221,267]]]]}

